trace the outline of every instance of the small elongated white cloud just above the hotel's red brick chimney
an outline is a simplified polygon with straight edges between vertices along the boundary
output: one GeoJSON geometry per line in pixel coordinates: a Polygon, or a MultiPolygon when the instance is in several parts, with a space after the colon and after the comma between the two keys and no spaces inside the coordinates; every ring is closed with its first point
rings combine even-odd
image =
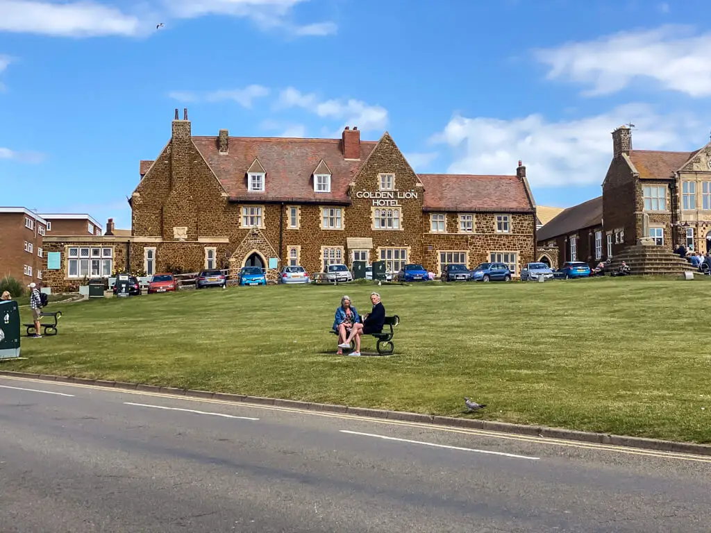
{"type": "Polygon", "coordinates": [[[301,107],[324,119],[343,121],[343,125],[358,126],[364,131],[382,131],[387,126],[387,109],[369,105],[353,98],[320,100],[314,93],[303,94],[288,87],[279,95],[274,109],[301,107]]]}

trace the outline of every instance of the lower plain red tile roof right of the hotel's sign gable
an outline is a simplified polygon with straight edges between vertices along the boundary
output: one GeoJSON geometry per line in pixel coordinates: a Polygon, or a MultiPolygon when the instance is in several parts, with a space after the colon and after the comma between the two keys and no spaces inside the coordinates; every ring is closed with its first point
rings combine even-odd
{"type": "Polygon", "coordinates": [[[418,174],[424,210],[534,212],[526,187],[516,176],[418,174]]]}

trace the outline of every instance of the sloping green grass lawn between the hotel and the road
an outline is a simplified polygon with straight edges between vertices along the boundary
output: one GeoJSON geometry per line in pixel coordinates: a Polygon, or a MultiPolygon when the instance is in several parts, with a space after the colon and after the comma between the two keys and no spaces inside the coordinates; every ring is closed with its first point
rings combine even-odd
{"type": "Polygon", "coordinates": [[[1,368],[711,442],[709,288],[606,278],[56,303],[59,335],[23,338],[28,360],[1,368]],[[397,356],[337,356],[341,296],[364,313],[373,289],[401,318],[397,356]],[[486,412],[463,414],[465,394],[486,412]]]}

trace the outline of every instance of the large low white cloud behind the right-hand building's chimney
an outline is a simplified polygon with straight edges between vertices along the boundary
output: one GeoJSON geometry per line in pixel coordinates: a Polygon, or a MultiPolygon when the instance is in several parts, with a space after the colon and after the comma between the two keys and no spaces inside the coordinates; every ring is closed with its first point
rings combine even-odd
{"type": "Polygon", "coordinates": [[[451,149],[451,173],[511,175],[522,160],[534,187],[599,185],[612,157],[610,132],[629,121],[637,149],[691,150],[707,142],[695,115],[661,115],[646,104],[559,122],[540,114],[511,120],[456,115],[432,141],[451,149]]]}

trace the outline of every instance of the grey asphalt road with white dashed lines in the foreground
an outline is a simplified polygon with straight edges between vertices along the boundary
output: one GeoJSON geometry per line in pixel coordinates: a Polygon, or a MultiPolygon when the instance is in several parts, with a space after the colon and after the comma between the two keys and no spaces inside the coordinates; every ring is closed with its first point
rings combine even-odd
{"type": "Polygon", "coordinates": [[[704,532],[711,458],[0,377],[0,532],[704,532]]]}

